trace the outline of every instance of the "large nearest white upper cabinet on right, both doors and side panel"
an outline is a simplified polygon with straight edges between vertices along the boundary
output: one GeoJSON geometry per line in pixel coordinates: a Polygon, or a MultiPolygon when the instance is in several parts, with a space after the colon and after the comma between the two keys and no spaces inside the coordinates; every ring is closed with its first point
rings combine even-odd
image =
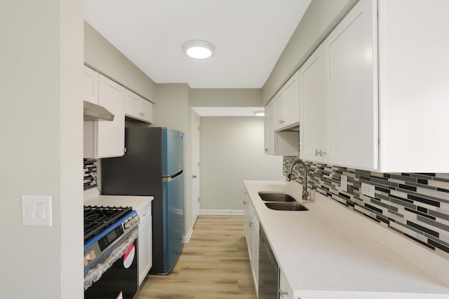
{"type": "Polygon", "coordinates": [[[447,0],[359,1],[300,69],[300,156],[449,172],[448,11],[447,0]]]}

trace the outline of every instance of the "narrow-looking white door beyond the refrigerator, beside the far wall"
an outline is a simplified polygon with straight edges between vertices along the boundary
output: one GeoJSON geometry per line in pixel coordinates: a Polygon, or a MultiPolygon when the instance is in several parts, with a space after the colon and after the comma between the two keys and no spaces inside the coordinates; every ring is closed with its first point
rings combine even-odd
{"type": "Polygon", "coordinates": [[[199,116],[192,111],[192,223],[199,216],[199,116]]]}

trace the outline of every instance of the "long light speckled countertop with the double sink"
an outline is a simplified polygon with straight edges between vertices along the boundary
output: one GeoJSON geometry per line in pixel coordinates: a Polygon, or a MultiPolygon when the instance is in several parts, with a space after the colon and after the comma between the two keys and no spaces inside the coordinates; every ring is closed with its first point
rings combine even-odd
{"type": "Polygon", "coordinates": [[[294,298],[449,298],[448,260],[319,193],[309,211],[268,209],[257,194],[299,200],[299,183],[243,183],[294,298]]]}

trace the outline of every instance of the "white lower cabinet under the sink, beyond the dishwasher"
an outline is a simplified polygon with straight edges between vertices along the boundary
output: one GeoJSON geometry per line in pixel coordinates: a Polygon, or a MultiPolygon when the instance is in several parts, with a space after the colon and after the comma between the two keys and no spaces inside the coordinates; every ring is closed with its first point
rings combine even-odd
{"type": "Polygon", "coordinates": [[[255,291],[258,293],[259,286],[259,218],[248,193],[243,200],[245,205],[245,232],[248,254],[250,256],[251,271],[253,272],[255,291]]]}

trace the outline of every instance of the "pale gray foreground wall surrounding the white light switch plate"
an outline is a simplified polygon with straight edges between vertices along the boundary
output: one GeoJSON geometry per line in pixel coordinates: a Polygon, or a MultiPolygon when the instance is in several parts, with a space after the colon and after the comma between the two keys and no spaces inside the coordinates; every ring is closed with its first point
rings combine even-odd
{"type": "Polygon", "coordinates": [[[83,297],[81,0],[1,1],[1,298],[83,297]],[[22,195],[52,226],[22,225],[22,195]]]}

